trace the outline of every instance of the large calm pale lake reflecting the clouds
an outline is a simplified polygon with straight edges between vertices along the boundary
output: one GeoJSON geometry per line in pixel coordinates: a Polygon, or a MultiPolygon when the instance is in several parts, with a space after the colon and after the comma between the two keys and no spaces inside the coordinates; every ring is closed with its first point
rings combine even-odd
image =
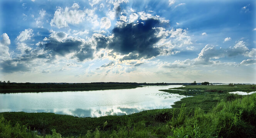
{"type": "Polygon", "coordinates": [[[187,96],[159,90],[181,86],[0,94],[0,112],[50,112],[76,117],[128,115],[143,110],[171,108],[174,102],[187,96]]]}

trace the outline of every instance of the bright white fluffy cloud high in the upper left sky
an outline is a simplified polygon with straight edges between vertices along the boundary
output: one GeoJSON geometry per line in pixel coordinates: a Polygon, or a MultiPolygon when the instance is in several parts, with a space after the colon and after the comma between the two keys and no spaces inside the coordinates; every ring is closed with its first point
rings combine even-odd
{"type": "Polygon", "coordinates": [[[68,24],[79,24],[84,20],[86,15],[84,11],[78,10],[79,5],[74,3],[72,7],[66,7],[64,10],[59,7],[51,20],[50,25],[58,28],[67,27],[68,24]]]}

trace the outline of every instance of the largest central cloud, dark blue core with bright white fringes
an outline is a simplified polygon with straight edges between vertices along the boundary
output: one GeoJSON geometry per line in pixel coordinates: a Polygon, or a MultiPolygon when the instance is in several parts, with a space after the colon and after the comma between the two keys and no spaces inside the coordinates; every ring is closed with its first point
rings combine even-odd
{"type": "MultiPolygon", "coordinates": [[[[187,45],[192,42],[186,35],[186,30],[182,28],[166,30],[163,28],[166,24],[162,20],[164,19],[160,19],[159,16],[151,16],[138,23],[118,21],[120,24],[113,28],[111,35],[95,33],[89,41],[93,47],[96,46],[96,51],[109,50],[111,52],[108,52],[107,57],[120,61],[150,59],[158,55],[179,53],[177,50],[172,51],[173,48],[183,46],[189,48],[187,45]]],[[[97,55],[100,54],[102,53],[97,55]]]]}

